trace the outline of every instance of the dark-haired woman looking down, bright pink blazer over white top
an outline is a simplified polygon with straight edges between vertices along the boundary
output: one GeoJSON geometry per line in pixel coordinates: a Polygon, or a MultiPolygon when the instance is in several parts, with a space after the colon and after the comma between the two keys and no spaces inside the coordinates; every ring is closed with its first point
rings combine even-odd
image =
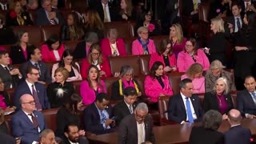
{"type": "Polygon", "coordinates": [[[56,62],[60,61],[65,46],[57,35],[51,35],[49,39],[42,45],[42,62],[56,62]]]}

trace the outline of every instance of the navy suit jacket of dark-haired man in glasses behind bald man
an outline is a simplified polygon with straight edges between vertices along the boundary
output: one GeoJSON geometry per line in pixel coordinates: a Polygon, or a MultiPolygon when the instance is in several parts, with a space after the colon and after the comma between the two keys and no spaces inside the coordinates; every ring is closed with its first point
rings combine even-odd
{"type": "MultiPolygon", "coordinates": [[[[50,102],[48,101],[46,86],[38,82],[35,82],[34,86],[38,92],[38,98],[42,105],[42,110],[50,109],[50,102]]],[[[23,81],[20,85],[18,85],[14,93],[14,106],[16,106],[18,109],[20,108],[19,98],[21,98],[23,94],[31,94],[30,88],[26,81],[23,81]]]]}

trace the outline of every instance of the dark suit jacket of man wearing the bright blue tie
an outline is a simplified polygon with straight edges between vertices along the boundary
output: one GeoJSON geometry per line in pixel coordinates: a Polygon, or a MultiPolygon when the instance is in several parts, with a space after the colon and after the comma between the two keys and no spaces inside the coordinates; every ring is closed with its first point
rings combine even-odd
{"type": "MultiPolygon", "coordinates": [[[[198,119],[195,122],[200,122],[203,116],[203,110],[201,107],[201,103],[197,95],[192,95],[190,98],[192,105],[194,107],[194,112],[197,115],[198,119]]],[[[168,104],[168,119],[170,121],[181,123],[182,121],[186,121],[186,107],[182,100],[181,94],[176,94],[170,97],[168,104]]]]}

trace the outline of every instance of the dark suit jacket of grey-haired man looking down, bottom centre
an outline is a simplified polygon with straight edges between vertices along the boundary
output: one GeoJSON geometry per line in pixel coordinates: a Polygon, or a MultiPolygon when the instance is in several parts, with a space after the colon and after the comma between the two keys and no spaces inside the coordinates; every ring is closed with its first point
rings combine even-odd
{"type": "MultiPolygon", "coordinates": [[[[145,141],[154,142],[153,119],[148,115],[145,123],[145,141]]],[[[138,143],[138,128],[135,115],[130,114],[122,119],[118,128],[118,144],[134,144],[138,143]]]]}

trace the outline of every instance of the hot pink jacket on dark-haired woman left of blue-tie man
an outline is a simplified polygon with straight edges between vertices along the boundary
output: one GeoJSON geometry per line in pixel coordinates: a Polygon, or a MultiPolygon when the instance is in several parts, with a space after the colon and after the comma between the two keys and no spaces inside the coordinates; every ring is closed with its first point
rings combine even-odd
{"type": "Polygon", "coordinates": [[[151,78],[149,75],[146,76],[144,81],[144,89],[146,96],[150,97],[151,102],[158,102],[158,97],[160,94],[168,96],[174,94],[167,76],[162,77],[162,82],[165,85],[163,89],[157,79],[151,78]]]}

